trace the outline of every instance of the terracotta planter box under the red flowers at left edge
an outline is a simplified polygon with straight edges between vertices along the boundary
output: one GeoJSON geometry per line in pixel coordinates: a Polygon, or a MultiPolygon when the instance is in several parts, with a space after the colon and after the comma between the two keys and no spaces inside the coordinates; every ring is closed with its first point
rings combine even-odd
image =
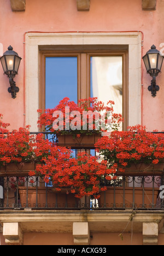
{"type": "Polygon", "coordinates": [[[0,176],[28,175],[30,170],[36,169],[36,163],[8,163],[0,167],[0,176]]]}

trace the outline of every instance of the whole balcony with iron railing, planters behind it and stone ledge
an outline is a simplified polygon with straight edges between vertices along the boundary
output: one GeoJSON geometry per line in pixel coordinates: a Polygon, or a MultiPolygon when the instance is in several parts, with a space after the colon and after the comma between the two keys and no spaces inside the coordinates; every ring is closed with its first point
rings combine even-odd
{"type": "MultiPolygon", "coordinates": [[[[56,142],[48,133],[44,136],[56,142]]],[[[93,155],[95,152],[91,146],[89,149],[83,146],[81,150],[93,155]]],[[[79,146],[73,149],[74,157],[79,151],[79,146]]],[[[125,227],[126,232],[131,232],[128,224],[132,220],[134,233],[142,234],[147,224],[157,225],[159,232],[164,230],[163,172],[114,174],[115,179],[101,181],[101,187],[107,190],[95,199],[92,196],[77,198],[69,187],[56,191],[42,177],[30,177],[28,170],[30,167],[10,169],[8,165],[0,170],[0,223],[7,244],[24,244],[24,233],[54,230],[72,233],[74,244],[83,244],[84,240],[74,235],[74,226],[80,224],[83,224],[80,229],[86,224],[92,234],[119,234],[125,227]],[[5,226],[7,230],[20,230],[21,235],[6,234],[5,226]]],[[[89,232],[85,236],[86,244],[90,244],[89,232]]],[[[153,233],[150,240],[149,235],[145,237],[144,244],[151,244],[152,237],[157,243],[156,234],[153,233]]]]}

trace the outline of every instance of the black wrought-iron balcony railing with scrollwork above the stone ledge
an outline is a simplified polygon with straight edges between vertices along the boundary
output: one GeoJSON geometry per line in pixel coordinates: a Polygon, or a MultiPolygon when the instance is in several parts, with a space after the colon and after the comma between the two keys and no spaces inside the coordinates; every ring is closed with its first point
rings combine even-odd
{"type": "Polygon", "coordinates": [[[1,177],[0,209],[86,209],[86,210],[163,210],[163,177],[118,176],[98,199],[76,198],[69,188],[56,192],[39,177],[1,177]]]}

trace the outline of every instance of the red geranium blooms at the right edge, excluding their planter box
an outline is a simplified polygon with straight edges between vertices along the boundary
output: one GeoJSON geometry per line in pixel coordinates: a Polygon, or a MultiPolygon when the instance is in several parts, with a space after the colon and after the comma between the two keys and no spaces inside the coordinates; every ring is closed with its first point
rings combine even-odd
{"type": "Polygon", "coordinates": [[[164,159],[164,134],[149,133],[145,126],[128,127],[127,132],[114,131],[96,143],[96,151],[105,157],[110,168],[124,171],[131,163],[157,164],[164,159]]]}

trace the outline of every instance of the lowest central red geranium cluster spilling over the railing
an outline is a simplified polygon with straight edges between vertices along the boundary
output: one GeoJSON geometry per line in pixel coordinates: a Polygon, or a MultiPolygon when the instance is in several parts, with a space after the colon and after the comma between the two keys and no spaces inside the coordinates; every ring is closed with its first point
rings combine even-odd
{"type": "Polygon", "coordinates": [[[105,175],[110,177],[111,173],[106,161],[98,162],[97,157],[85,152],[74,158],[71,150],[54,146],[50,155],[43,158],[43,163],[37,164],[36,172],[30,172],[30,175],[41,175],[45,183],[52,183],[57,190],[69,187],[75,197],[93,195],[98,198],[99,193],[106,190],[106,187],[101,188],[102,179],[105,175]]]}

